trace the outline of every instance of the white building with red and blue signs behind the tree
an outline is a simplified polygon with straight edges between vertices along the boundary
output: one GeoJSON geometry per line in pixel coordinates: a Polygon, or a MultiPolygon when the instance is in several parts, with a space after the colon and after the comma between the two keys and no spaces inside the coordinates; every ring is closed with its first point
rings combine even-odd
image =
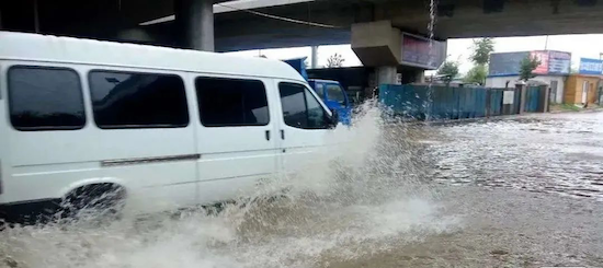
{"type": "Polygon", "coordinates": [[[564,102],[564,89],[570,73],[571,54],[554,50],[500,53],[490,55],[490,65],[486,86],[514,88],[520,80],[521,61],[535,57],[541,65],[533,71],[533,83],[545,83],[550,89],[551,103],[564,102]]]}

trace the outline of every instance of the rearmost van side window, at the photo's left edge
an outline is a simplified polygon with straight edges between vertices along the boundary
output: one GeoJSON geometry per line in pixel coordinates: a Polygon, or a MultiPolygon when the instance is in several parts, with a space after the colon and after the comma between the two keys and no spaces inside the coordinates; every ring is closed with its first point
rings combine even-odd
{"type": "Polygon", "coordinates": [[[66,68],[14,66],[9,69],[9,106],[18,130],[69,130],[86,125],[78,73],[66,68]]]}

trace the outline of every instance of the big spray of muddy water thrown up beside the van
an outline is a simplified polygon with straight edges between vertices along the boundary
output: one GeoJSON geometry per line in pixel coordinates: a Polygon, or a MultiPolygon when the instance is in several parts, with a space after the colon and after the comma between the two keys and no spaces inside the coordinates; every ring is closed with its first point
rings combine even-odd
{"type": "Polygon", "coordinates": [[[0,235],[0,267],[320,267],[456,230],[458,219],[441,213],[413,130],[387,126],[373,102],[354,123],[331,137],[348,141],[337,153],[265,184],[246,206],[94,228],[14,228],[0,235]],[[288,189],[284,198],[268,198],[280,188],[288,189]]]}

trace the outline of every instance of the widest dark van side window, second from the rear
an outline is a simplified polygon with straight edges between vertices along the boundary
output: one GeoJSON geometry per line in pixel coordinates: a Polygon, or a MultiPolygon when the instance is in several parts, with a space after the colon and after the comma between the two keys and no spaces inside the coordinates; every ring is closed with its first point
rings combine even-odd
{"type": "Polygon", "coordinates": [[[174,128],[189,125],[184,82],[178,75],[94,70],[89,73],[100,128],[174,128]]]}

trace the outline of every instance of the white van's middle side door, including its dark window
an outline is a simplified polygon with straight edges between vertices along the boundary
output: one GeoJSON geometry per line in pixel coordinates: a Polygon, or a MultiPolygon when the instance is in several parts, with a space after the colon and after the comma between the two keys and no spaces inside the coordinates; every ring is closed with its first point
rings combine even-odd
{"type": "Polygon", "coordinates": [[[268,79],[197,77],[200,199],[252,196],[276,171],[276,121],[268,79]]]}

